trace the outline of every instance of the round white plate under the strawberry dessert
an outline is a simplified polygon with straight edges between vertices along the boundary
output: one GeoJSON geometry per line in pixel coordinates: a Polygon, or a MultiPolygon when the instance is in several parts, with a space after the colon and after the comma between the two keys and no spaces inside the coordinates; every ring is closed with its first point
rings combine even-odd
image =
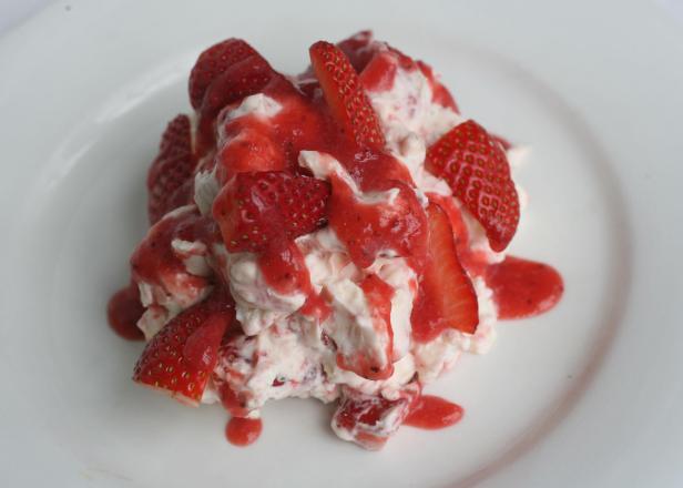
{"type": "Polygon", "coordinates": [[[683,35],[655,6],[102,3],[54,3],[0,42],[4,486],[683,485],[683,35]],[[512,251],[557,265],[567,294],[430,388],[467,408],[458,427],[371,454],[287,400],[238,449],[220,408],[134,386],[141,345],[105,324],[146,165],[203,47],[243,37],[295,72],[313,41],[367,27],[533,145],[512,251]]]}

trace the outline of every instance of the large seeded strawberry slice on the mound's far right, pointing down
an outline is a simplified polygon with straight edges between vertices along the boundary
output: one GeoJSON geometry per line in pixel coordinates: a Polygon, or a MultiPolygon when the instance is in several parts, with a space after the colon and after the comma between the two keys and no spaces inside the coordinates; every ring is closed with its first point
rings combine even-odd
{"type": "Polygon", "coordinates": [[[425,167],[449,183],[486,230],[493,251],[508,246],[519,223],[519,197],[498,141],[468,120],[429,146],[425,167]]]}

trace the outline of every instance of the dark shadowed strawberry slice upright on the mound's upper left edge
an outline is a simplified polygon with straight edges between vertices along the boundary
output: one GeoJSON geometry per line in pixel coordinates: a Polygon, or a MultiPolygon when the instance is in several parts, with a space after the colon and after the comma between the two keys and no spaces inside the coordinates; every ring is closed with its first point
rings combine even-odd
{"type": "Polygon", "coordinates": [[[177,115],[169,122],[159,145],[159,154],[147,173],[151,224],[173,209],[190,203],[195,166],[190,118],[177,115]]]}

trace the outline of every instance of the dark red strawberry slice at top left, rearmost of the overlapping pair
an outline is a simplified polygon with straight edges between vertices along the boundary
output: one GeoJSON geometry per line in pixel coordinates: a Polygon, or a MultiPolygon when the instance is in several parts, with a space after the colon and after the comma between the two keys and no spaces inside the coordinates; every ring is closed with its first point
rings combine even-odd
{"type": "Polygon", "coordinates": [[[233,64],[258,52],[242,39],[227,39],[200,54],[190,73],[190,102],[198,110],[208,85],[233,64]]]}

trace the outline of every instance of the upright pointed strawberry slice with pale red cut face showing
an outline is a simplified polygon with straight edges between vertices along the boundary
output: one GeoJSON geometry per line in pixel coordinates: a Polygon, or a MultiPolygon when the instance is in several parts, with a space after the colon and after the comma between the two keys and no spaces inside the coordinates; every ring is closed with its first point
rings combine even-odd
{"type": "Polygon", "coordinates": [[[430,203],[428,253],[412,307],[412,338],[427,343],[446,328],[473,334],[479,324],[477,294],[458,261],[448,215],[430,203]]]}

